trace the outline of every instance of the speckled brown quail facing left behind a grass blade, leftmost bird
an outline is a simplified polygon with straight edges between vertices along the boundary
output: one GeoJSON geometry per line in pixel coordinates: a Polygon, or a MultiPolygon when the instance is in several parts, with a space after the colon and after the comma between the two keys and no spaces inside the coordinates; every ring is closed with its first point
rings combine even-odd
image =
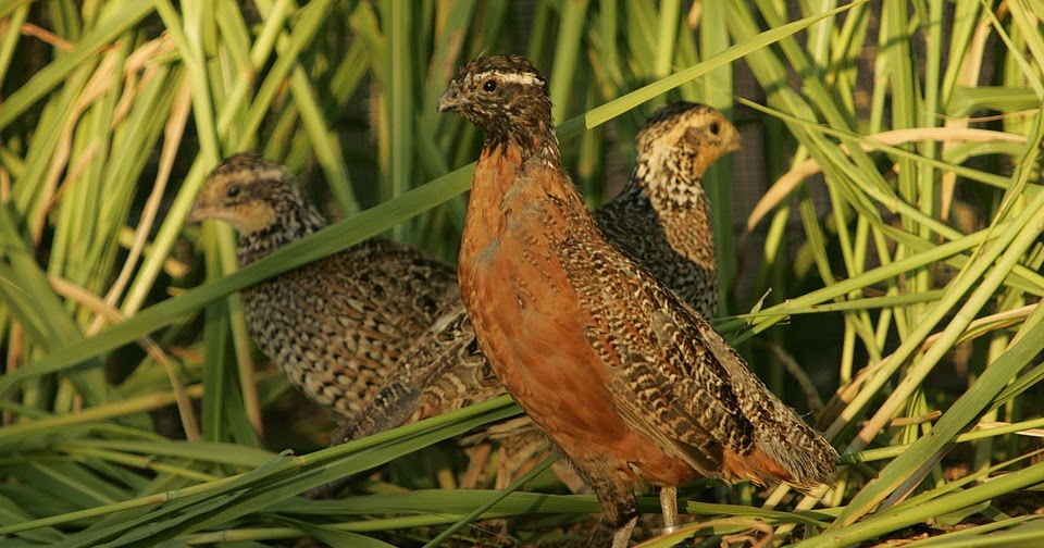
{"type": "MultiPolygon", "coordinates": [[[[240,266],[326,226],[286,167],[252,152],[225,159],[210,174],[189,214],[207,219],[239,232],[240,266]]],[[[351,416],[459,295],[456,279],[448,264],[374,238],[240,296],[262,352],[309,398],[351,416]]]]}

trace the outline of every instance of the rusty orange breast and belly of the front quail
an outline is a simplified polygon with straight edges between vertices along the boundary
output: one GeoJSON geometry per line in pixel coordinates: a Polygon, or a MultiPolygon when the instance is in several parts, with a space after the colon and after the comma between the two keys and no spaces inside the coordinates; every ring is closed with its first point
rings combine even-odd
{"type": "MultiPolygon", "coordinates": [[[[508,393],[583,470],[597,459],[614,482],[676,485],[695,477],[620,415],[593,320],[558,260],[563,213],[542,194],[551,170],[520,173],[497,154],[475,171],[459,283],[480,347],[508,393]]],[[[592,469],[595,466],[591,466],[592,469]]],[[[601,466],[597,466],[601,468],[601,466]]],[[[588,473],[593,473],[588,471],[588,473]]]]}

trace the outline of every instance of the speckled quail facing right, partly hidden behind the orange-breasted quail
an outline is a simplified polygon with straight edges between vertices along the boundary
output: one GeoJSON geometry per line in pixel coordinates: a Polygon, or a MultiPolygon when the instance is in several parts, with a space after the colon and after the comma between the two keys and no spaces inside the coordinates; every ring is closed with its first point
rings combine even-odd
{"type": "MultiPolygon", "coordinates": [[[[657,110],[636,140],[631,177],[612,201],[595,212],[595,221],[609,242],[697,312],[712,317],[718,311],[718,265],[701,177],[719,158],[739,148],[738,133],[721,112],[680,101],[657,110]]],[[[474,329],[459,302],[402,354],[371,406],[335,439],[366,436],[500,394],[504,388],[478,352],[474,329]]],[[[539,431],[524,421],[494,433],[500,439],[511,437],[511,432],[526,438],[510,443],[513,450],[501,454],[501,470],[510,471],[548,447],[539,431]]],[[[499,474],[498,485],[509,475],[499,474]]]]}

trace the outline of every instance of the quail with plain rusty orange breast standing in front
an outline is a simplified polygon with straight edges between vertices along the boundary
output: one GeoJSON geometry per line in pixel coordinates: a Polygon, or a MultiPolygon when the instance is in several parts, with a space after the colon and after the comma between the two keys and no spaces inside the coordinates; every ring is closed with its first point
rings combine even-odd
{"type": "Polygon", "coordinates": [[[439,97],[486,134],[461,242],[478,348],[569,457],[627,545],[634,489],[699,476],[809,489],[836,451],[692,307],[609,245],[561,166],[547,82],[521,57],[468,63],[439,97]]]}

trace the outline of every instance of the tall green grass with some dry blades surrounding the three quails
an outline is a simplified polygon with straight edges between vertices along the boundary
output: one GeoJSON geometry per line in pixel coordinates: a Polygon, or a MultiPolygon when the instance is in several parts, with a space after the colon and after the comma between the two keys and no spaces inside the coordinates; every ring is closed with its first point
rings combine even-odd
{"type": "Polygon", "coordinates": [[[481,135],[436,115],[435,98],[461,62],[511,51],[549,75],[593,203],[605,158],[633,158],[631,136],[667,100],[709,102],[761,135],[744,158],[772,185],[749,217],[731,199],[749,182],[725,166],[706,180],[734,314],[718,326],[756,342],[741,349],[781,391],[796,375],[808,402],[817,383],[832,396],[816,419],[846,465],[815,498],[691,490],[682,536],[846,546],[918,526],[924,546],[1041,541],[1006,500],[1044,483],[1044,10],[784,4],[0,7],[0,538],[387,546],[382,532],[421,544],[480,512],[591,514],[589,496],[421,488],[434,484],[420,471],[300,498],[518,410],[501,398],[279,452],[264,411],[286,383],[257,359],[236,297],[384,233],[452,258],[481,135]],[[742,64],[765,101],[736,91],[742,64]],[[236,270],[232,232],[185,216],[219,159],[248,148],[322,180],[344,221],[236,270]],[[742,264],[739,226],[765,241],[742,264]]]}

